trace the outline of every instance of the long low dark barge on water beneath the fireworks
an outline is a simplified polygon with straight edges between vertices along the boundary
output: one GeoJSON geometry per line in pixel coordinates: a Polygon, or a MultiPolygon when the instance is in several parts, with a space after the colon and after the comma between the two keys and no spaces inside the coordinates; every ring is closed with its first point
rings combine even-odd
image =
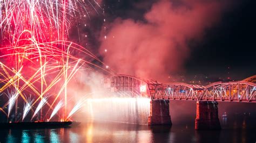
{"type": "Polygon", "coordinates": [[[17,123],[0,123],[1,128],[58,128],[69,127],[72,121],[38,121],[38,122],[17,122],[17,123]]]}

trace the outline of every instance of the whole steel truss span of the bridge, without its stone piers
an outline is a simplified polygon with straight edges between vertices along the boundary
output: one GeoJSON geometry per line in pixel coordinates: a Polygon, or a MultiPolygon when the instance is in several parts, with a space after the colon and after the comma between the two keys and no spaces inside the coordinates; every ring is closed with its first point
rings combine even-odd
{"type": "Polygon", "coordinates": [[[183,101],[218,101],[218,102],[254,102],[256,103],[255,80],[214,82],[194,85],[186,83],[159,83],[129,75],[112,75],[104,78],[105,88],[119,96],[144,96],[151,99],[171,99],[183,101]]]}

